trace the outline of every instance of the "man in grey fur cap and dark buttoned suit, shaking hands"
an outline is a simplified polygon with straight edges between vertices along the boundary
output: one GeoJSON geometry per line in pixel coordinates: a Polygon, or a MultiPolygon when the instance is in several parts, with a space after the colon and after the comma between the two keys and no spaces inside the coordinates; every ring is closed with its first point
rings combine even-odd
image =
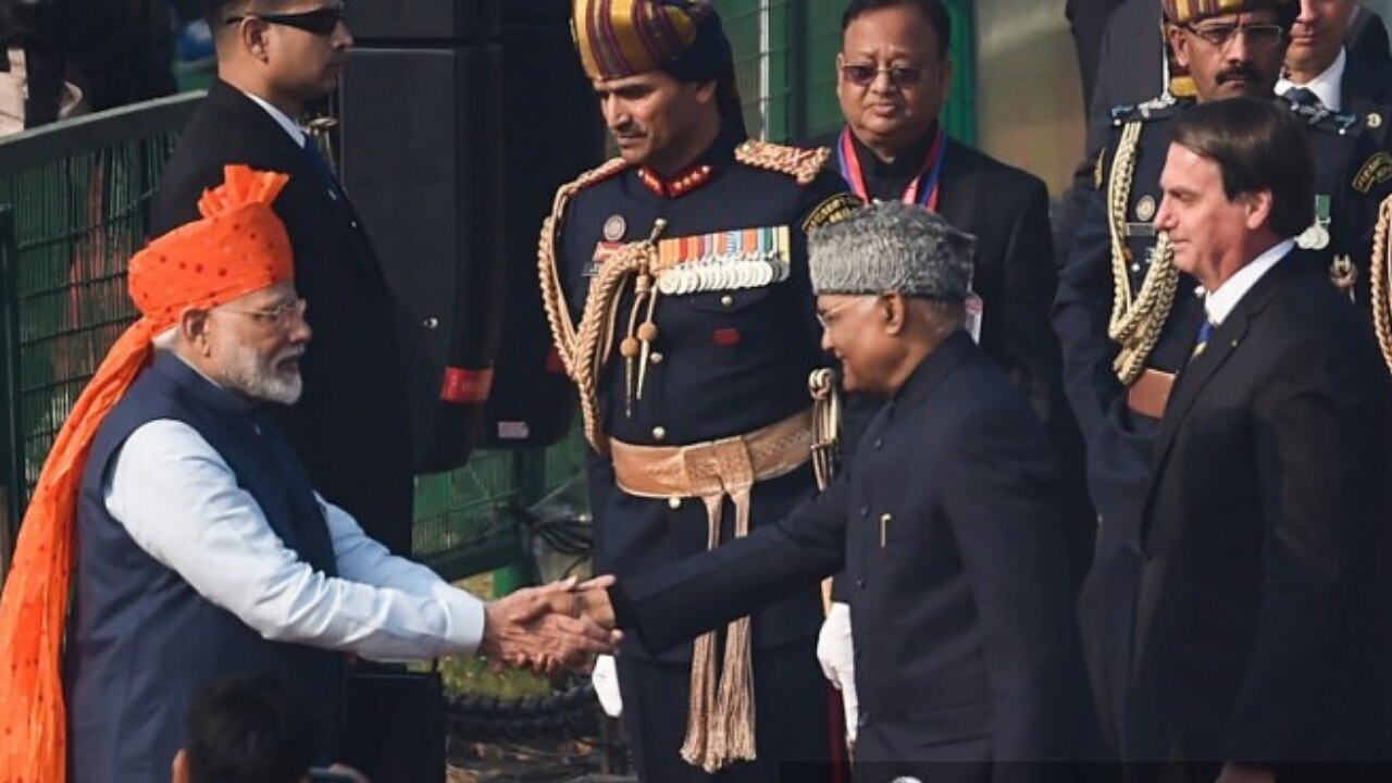
{"type": "Polygon", "coordinates": [[[849,471],[775,525],[589,598],[663,649],[844,566],[857,782],[1063,773],[1029,762],[1079,758],[1089,726],[1077,539],[1044,428],[963,329],[973,240],[881,203],[809,242],[823,347],[849,392],[889,398],[849,471]]]}

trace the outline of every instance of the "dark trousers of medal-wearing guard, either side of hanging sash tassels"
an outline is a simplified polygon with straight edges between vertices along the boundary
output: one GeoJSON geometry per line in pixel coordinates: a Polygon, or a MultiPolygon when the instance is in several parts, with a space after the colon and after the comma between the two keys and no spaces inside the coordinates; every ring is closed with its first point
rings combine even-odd
{"type": "Polygon", "coordinates": [[[640,783],[817,783],[831,780],[827,688],[817,639],[753,651],[754,737],[759,758],[715,775],[682,761],[690,665],[618,658],[624,727],[640,783]]]}

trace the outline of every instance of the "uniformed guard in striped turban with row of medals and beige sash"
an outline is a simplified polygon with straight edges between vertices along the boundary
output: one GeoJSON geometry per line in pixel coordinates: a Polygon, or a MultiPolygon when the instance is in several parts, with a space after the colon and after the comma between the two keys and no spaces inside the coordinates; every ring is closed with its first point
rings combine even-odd
{"type": "MultiPolygon", "coordinates": [[[[813,493],[806,383],[823,354],[805,233],[859,201],[828,150],[748,138],[709,3],[576,0],[574,28],[621,155],[558,191],[540,279],[592,447],[596,568],[622,578],[813,493]]],[[[774,780],[824,761],[820,623],[809,584],[674,652],[629,639],[639,777],[774,780]]]]}

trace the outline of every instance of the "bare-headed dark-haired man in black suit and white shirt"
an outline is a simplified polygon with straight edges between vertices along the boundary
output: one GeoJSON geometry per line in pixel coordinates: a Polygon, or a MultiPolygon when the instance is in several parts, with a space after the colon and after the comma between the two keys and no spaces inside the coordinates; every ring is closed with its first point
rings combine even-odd
{"type": "Polygon", "coordinates": [[[1175,121],[1155,228],[1205,320],[1157,437],[1122,724],[1123,758],[1175,779],[1346,780],[1320,763],[1392,752],[1374,644],[1392,385],[1292,240],[1313,183],[1270,102],[1175,121]]]}

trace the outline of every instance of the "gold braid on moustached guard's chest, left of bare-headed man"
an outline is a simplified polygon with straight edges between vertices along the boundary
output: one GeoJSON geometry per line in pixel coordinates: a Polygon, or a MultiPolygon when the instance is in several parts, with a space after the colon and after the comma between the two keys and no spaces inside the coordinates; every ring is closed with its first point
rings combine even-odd
{"type": "Polygon", "coordinates": [[[1122,383],[1130,385],[1146,369],[1146,359],[1160,341],[1160,333],[1169,318],[1179,287],[1179,272],[1173,263],[1173,247],[1169,237],[1161,234],[1155,241],[1155,255],[1140,293],[1133,294],[1126,247],[1126,208],[1130,202],[1132,180],[1136,176],[1136,153],[1140,148],[1143,124],[1128,123],[1122,130],[1116,157],[1112,160],[1112,176],[1107,183],[1107,206],[1112,240],[1112,316],[1107,334],[1121,346],[1112,369],[1122,383]]]}

